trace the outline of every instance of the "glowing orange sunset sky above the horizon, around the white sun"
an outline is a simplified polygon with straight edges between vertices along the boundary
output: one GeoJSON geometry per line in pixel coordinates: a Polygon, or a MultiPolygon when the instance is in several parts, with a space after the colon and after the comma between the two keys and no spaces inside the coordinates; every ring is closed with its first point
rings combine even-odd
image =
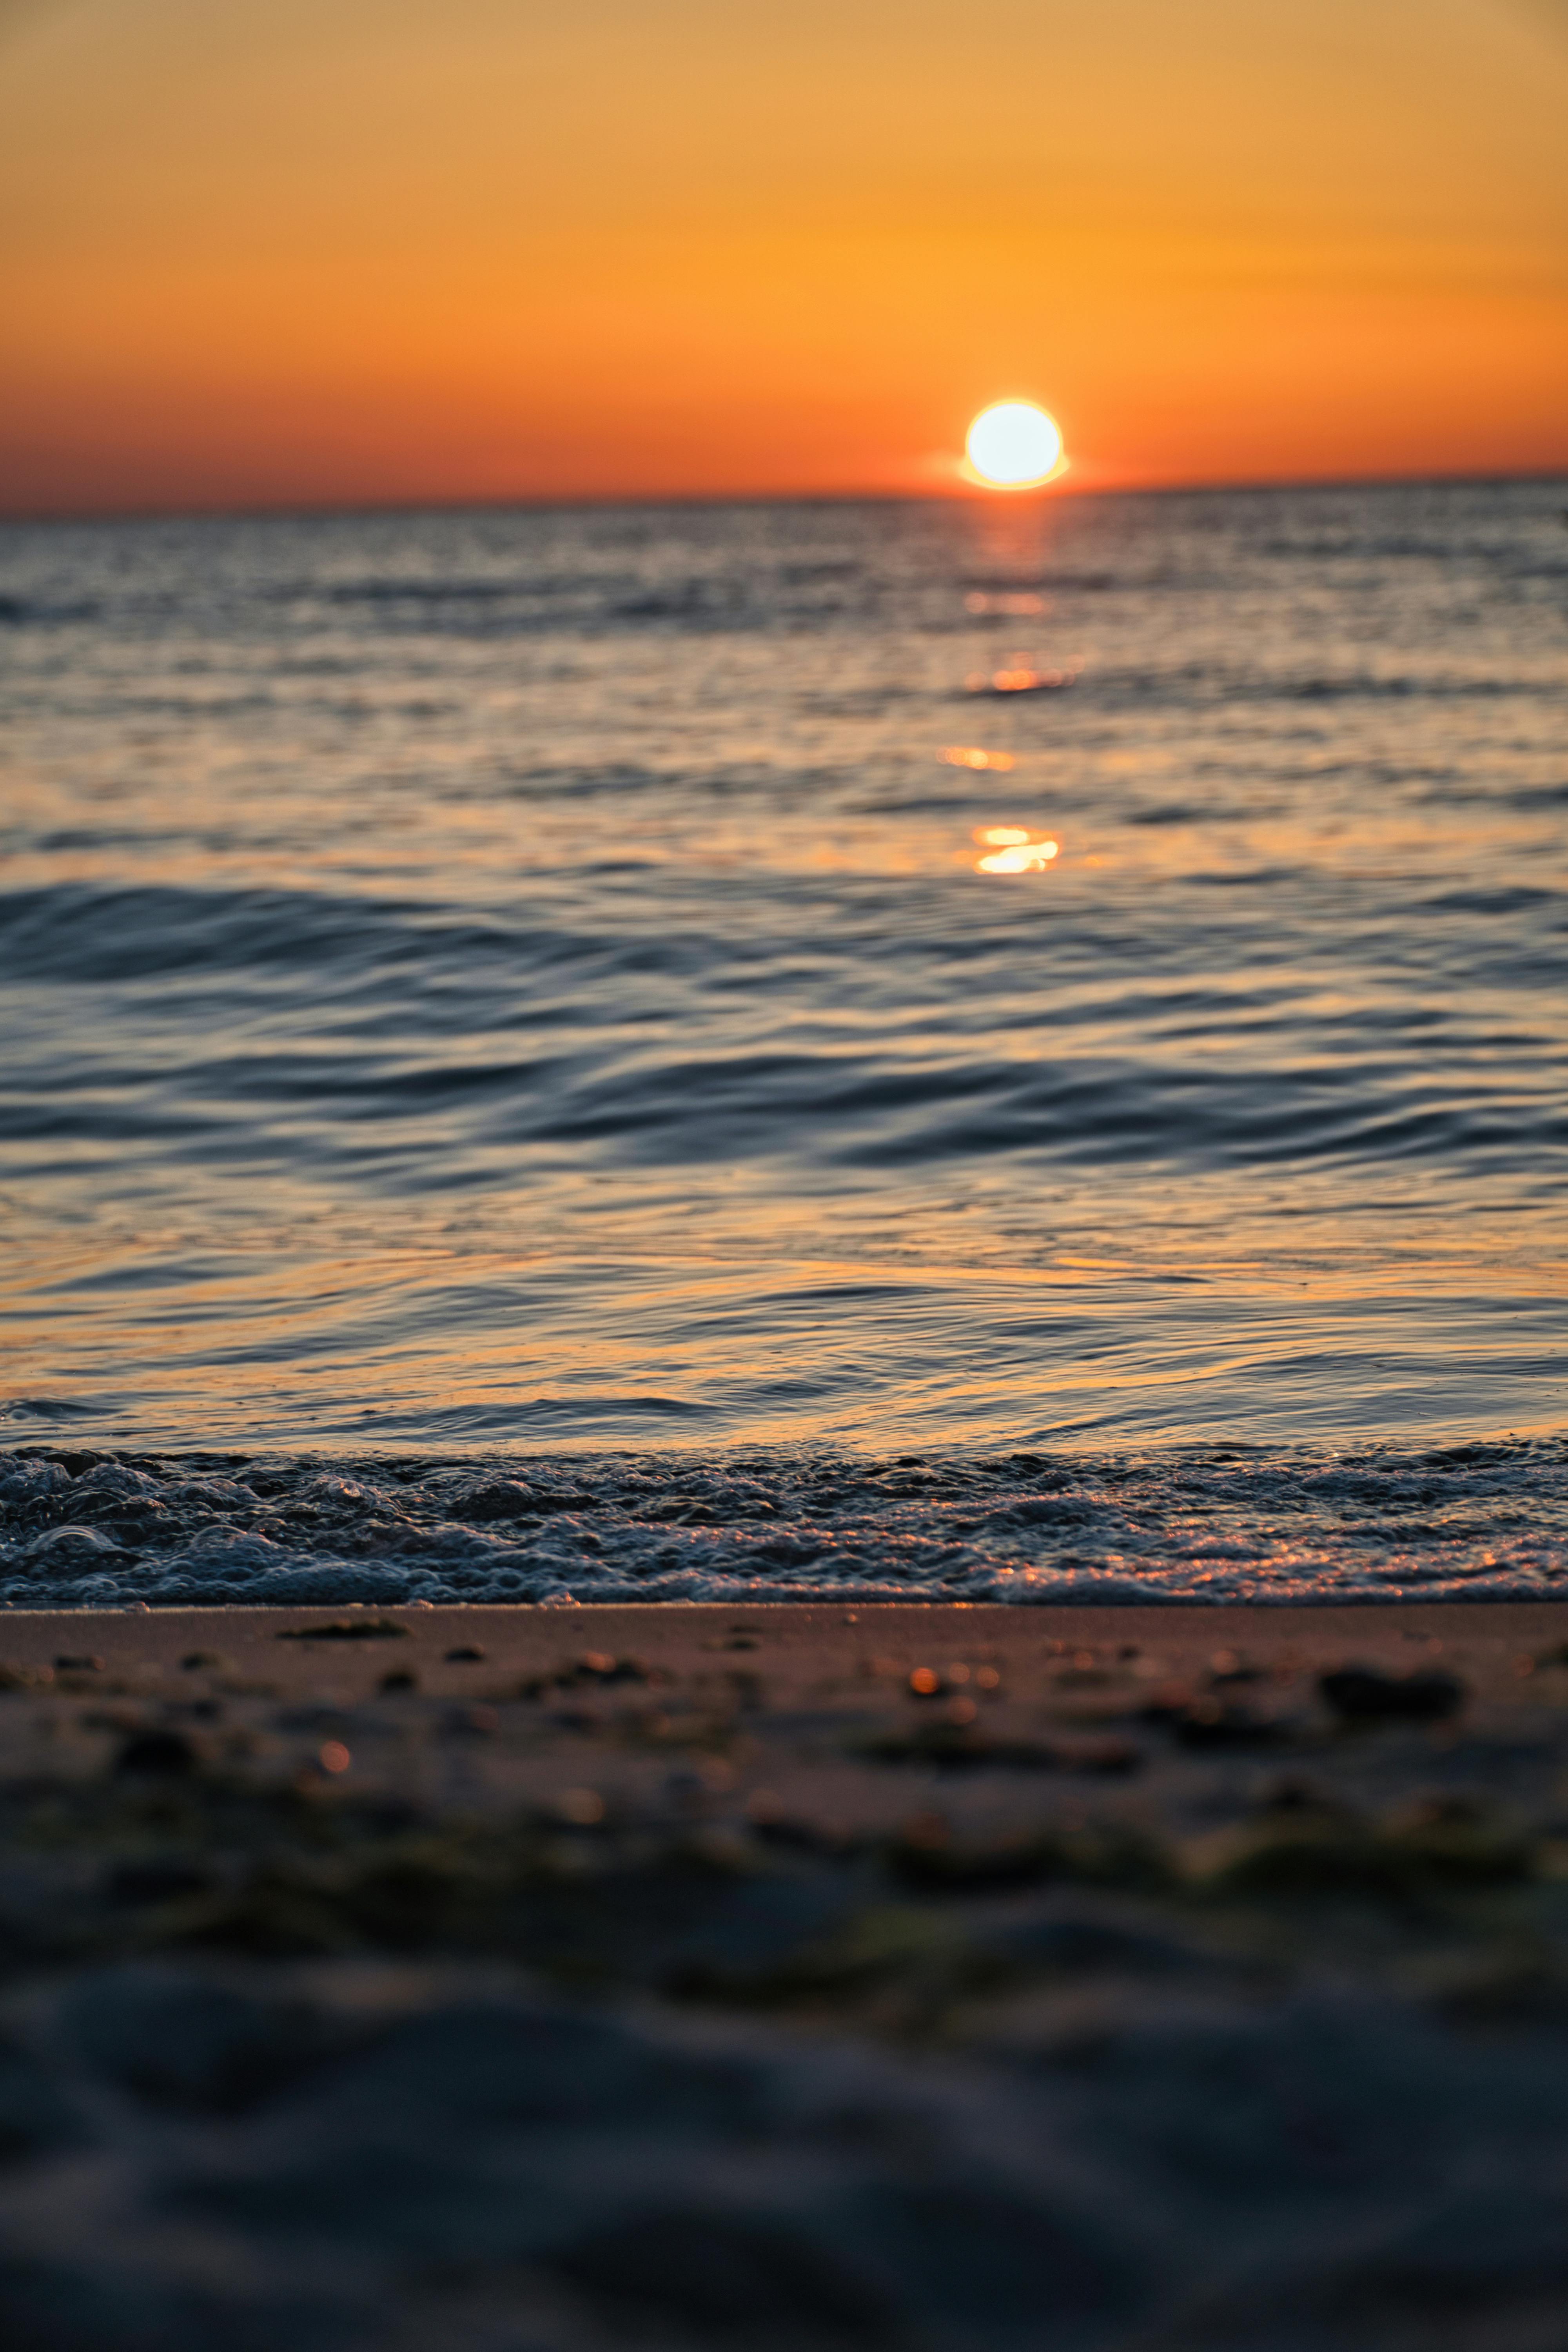
{"type": "Polygon", "coordinates": [[[1568,468],[1563,0],[0,0],[0,510],[1568,468]]]}

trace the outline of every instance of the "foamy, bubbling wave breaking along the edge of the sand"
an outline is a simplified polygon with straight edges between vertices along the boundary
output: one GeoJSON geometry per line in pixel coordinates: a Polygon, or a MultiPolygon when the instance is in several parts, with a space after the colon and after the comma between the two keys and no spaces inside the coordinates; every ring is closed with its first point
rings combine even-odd
{"type": "Polygon", "coordinates": [[[1568,1446],[0,1456],[2,1606],[1544,1599],[1568,1446]]]}

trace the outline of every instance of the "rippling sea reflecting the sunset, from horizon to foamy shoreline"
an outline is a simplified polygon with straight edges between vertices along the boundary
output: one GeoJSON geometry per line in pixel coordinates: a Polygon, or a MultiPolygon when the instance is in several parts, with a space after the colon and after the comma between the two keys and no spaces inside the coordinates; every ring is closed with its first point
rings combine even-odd
{"type": "Polygon", "coordinates": [[[0,529],[0,1599],[1568,1590],[1566,503],[0,529]]]}

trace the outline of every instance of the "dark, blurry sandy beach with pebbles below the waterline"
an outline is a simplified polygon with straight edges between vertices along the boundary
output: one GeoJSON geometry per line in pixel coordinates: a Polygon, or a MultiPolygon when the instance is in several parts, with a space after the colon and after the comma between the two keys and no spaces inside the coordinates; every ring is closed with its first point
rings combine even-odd
{"type": "Polygon", "coordinates": [[[1568,1604],[0,1661],[9,2343],[1561,2343],[1568,1604]]]}

